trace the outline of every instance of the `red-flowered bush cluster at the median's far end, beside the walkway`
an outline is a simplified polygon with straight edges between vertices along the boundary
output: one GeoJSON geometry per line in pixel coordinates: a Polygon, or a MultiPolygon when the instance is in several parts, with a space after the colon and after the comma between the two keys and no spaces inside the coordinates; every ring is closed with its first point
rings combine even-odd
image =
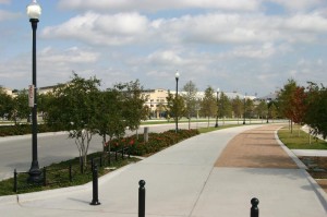
{"type": "MultiPolygon", "coordinates": [[[[144,156],[157,153],[197,134],[199,134],[197,130],[179,130],[178,133],[171,130],[164,133],[149,133],[147,143],[144,141],[144,134],[132,135],[112,140],[110,142],[110,150],[116,152],[122,148],[129,148],[131,155],[144,156]]],[[[107,144],[109,144],[109,142],[107,144]]]]}

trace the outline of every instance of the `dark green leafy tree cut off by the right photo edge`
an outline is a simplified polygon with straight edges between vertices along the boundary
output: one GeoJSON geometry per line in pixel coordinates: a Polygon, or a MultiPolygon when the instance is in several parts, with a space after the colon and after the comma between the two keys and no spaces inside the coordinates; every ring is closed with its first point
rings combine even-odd
{"type": "Polygon", "coordinates": [[[308,124],[315,135],[327,137],[327,88],[315,83],[308,83],[306,98],[306,113],[304,122],[308,124]]]}

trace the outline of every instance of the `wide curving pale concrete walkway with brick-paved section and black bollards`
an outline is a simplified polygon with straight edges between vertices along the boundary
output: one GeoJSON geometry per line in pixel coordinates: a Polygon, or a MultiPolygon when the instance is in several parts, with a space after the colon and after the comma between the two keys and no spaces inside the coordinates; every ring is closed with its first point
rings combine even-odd
{"type": "Polygon", "coordinates": [[[99,206],[89,205],[88,183],[0,197],[1,217],[135,217],[141,179],[146,181],[146,216],[250,216],[252,197],[261,201],[264,217],[327,216],[326,194],[291,160],[296,159],[291,152],[284,152],[275,137],[266,137],[275,136],[277,129],[245,125],[183,141],[100,178],[99,206]],[[237,144],[234,138],[240,134],[243,138],[237,144]],[[270,155],[269,148],[274,149],[270,155]],[[255,166],[266,164],[265,159],[272,166],[255,166]],[[244,166],[249,160],[255,164],[244,166]],[[286,161],[290,165],[279,167],[286,161]]]}

